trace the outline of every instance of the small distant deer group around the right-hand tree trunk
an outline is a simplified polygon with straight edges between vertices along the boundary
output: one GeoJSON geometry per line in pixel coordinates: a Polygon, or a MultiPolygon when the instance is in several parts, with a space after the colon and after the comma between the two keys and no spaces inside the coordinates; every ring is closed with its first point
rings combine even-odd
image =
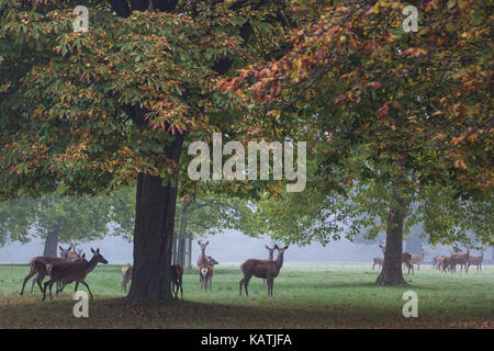
{"type": "MultiPolygon", "coordinates": [[[[386,251],[385,246],[379,246],[383,253],[386,251]]],[[[453,253],[450,251],[450,256],[442,256],[438,254],[433,258],[433,269],[436,271],[442,271],[442,272],[457,272],[457,265],[460,265],[460,271],[463,271],[468,273],[470,265],[475,265],[476,271],[482,272],[482,262],[484,260],[484,249],[480,250],[480,256],[470,256],[470,250],[472,247],[467,248],[465,253],[453,253]]],[[[412,254],[409,252],[403,252],[403,259],[402,263],[408,269],[412,270],[412,273],[414,273],[414,264],[417,265],[417,271],[420,270],[420,264],[424,262],[425,258],[425,250],[422,250],[422,254],[412,254]]],[[[384,263],[384,259],[380,257],[374,257],[372,262],[372,270],[375,268],[375,265],[379,265],[379,268],[382,268],[382,264],[384,263]]]]}

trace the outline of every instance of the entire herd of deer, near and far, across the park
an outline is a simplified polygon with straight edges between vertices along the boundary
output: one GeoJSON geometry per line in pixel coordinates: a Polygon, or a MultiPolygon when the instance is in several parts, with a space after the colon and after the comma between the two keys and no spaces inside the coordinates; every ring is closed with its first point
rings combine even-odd
{"type": "MultiPolygon", "coordinates": [[[[214,276],[214,265],[218,264],[214,258],[207,256],[205,253],[206,247],[210,241],[202,242],[198,241],[198,245],[201,248],[201,253],[198,257],[197,265],[199,269],[199,283],[201,286],[201,291],[212,290],[213,287],[213,276],[214,276]]],[[[381,248],[382,253],[384,254],[386,251],[385,246],[379,246],[381,248]]],[[[61,246],[58,247],[60,250],[60,257],[43,257],[38,256],[32,258],[30,260],[30,272],[24,278],[24,282],[21,288],[21,295],[24,293],[25,284],[30,279],[33,279],[31,283],[31,293],[34,291],[34,284],[37,283],[40,291],[43,294],[42,301],[46,298],[46,292],[49,288],[49,298],[52,299],[52,288],[56,283],[56,295],[60,294],[64,287],[67,284],[76,283],[75,292],[79,287],[79,283],[86,286],[89,292],[91,298],[92,293],[89,288],[88,283],[86,282],[86,276],[94,270],[98,263],[106,264],[108,261],[100,253],[100,249],[92,249],[92,258],[88,261],[86,260],[86,253],[82,250],[77,249],[76,245],[70,245],[67,249],[64,249],[61,246]],[[49,280],[45,282],[43,285],[43,280],[48,275],[49,280]]],[[[260,278],[263,280],[265,284],[268,284],[268,296],[272,296],[272,291],[274,286],[274,279],[280,273],[280,270],[283,265],[283,256],[284,251],[289,247],[285,246],[283,248],[274,247],[270,248],[266,246],[268,250],[268,259],[248,259],[244,263],[240,264],[240,271],[244,274],[244,278],[238,283],[239,295],[242,296],[243,288],[245,290],[246,295],[248,295],[248,285],[250,279],[252,276],[260,278]],[[274,251],[278,251],[277,259],[274,260],[274,251]]],[[[433,269],[436,271],[442,272],[457,272],[457,265],[460,265],[460,270],[468,273],[470,265],[475,265],[476,271],[482,272],[482,262],[484,259],[484,250],[481,250],[480,256],[471,256],[470,250],[472,247],[467,248],[465,253],[453,253],[450,251],[450,256],[436,256],[433,258],[433,269]]],[[[417,267],[417,271],[420,270],[420,264],[424,262],[425,250],[422,250],[422,254],[412,254],[409,252],[402,253],[402,263],[405,268],[407,268],[407,272],[412,271],[414,273],[415,265],[417,267]]],[[[375,265],[382,268],[384,264],[384,259],[380,257],[375,257],[372,262],[372,270],[375,265]]],[[[133,267],[131,264],[125,264],[122,268],[122,284],[121,291],[127,291],[127,284],[132,280],[133,267]]],[[[180,264],[172,264],[170,267],[170,278],[171,278],[171,292],[176,298],[178,298],[178,293],[180,291],[180,296],[183,298],[183,287],[182,287],[182,278],[183,278],[183,267],[180,264]]]]}

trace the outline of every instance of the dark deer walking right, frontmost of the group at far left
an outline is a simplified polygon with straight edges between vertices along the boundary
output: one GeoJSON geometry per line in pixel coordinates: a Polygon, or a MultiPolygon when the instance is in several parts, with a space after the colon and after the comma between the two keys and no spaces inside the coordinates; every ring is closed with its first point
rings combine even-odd
{"type": "MultiPolygon", "coordinates": [[[[89,296],[92,297],[91,290],[89,288],[88,283],[86,283],[85,279],[86,276],[97,267],[98,263],[106,264],[108,261],[104,259],[104,257],[100,253],[100,249],[98,248],[96,251],[91,248],[92,258],[88,262],[86,260],[85,254],[82,256],[81,261],[76,262],[52,262],[46,264],[46,271],[49,274],[49,281],[47,281],[44,284],[43,290],[43,301],[46,298],[46,288],[49,286],[49,299],[52,299],[52,287],[54,283],[60,282],[60,283],[71,283],[76,282],[76,292],[79,287],[79,283],[82,283],[82,285],[86,286],[86,288],[89,292],[89,296]]],[[[57,294],[59,291],[57,290],[57,294]]]]}

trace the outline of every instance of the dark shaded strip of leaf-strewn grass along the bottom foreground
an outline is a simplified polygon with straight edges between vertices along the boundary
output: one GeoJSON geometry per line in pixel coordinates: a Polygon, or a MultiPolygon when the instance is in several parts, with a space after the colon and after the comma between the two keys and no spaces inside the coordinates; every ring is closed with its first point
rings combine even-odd
{"type": "Polygon", "coordinates": [[[404,318],[401,309],[382,306],[324,305],[301,307],[274,298],[239,297],[238,303],[172,301],[137,304],[125,297],[96,296],[89,302],[89,318],[72,315],[75,301],[65,296],[53,302],[38,297],[0,295],[0,328],[493,328],[475,316],[458,322],[454,316],[423,314],[404,318]]]}

